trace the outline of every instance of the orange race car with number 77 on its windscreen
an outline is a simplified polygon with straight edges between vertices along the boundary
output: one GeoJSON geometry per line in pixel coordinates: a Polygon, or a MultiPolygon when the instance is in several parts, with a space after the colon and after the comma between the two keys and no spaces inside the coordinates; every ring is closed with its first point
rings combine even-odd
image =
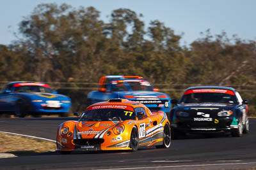
{"type": "MultiPolygon", "coordinates": [[[[74,113],[77,117],[79,113],[74,113]]],[[[138,146],[169,148],[170,122],[163,111],[151,113],[144,105],[127,99],[110,99],[86,108],[78,121],[58,127],[57,150],[138,150],[138,146]]]]}

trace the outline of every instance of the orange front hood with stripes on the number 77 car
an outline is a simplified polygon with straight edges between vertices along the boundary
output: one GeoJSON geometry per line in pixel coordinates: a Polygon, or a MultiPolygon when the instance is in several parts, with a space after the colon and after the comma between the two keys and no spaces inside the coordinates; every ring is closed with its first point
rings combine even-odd
{"type": "Polygon", "coordinates": [[[104,122],[77,122],[74,129],[74,139],[102,138],[111,127],[115,127],[119,121],[104,122]]]}

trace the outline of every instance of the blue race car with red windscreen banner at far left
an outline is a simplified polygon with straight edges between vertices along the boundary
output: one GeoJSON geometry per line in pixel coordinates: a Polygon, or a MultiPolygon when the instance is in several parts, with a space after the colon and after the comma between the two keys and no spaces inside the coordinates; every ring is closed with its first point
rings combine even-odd
{"type": "Polygon", "coordinates": [[[4,85],[0,93],[0,112],[16,117],[58,114],[67,117],[71,106],[69,97],[57,94],[45,83],[15,81],[4,85]]]}

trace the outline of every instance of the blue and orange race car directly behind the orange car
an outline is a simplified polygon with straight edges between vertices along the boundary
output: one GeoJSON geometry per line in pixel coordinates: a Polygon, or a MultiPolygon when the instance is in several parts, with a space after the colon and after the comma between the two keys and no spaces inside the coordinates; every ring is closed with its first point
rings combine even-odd
{"type": "Polygon", "coordinates": [[[108,101],[109,99],[129,99],[145,104],[151,111],[170,112],[170,97],[158,92],[140,76],[102,76],[99,80],[99,89],[90,92],[90,103],[108,101]]]}

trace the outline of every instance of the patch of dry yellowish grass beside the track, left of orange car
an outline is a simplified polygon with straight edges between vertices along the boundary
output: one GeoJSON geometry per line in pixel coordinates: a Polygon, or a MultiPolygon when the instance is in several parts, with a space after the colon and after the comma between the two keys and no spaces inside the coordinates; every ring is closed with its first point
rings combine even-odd
{"type": "Polygon", "coordinates": [[[56,150],[56,144],[52,142],[25,138],[12,134],[0,133],[0,135],[0,153],[31,155],[42,152],[54,152],[56,150]]]}

